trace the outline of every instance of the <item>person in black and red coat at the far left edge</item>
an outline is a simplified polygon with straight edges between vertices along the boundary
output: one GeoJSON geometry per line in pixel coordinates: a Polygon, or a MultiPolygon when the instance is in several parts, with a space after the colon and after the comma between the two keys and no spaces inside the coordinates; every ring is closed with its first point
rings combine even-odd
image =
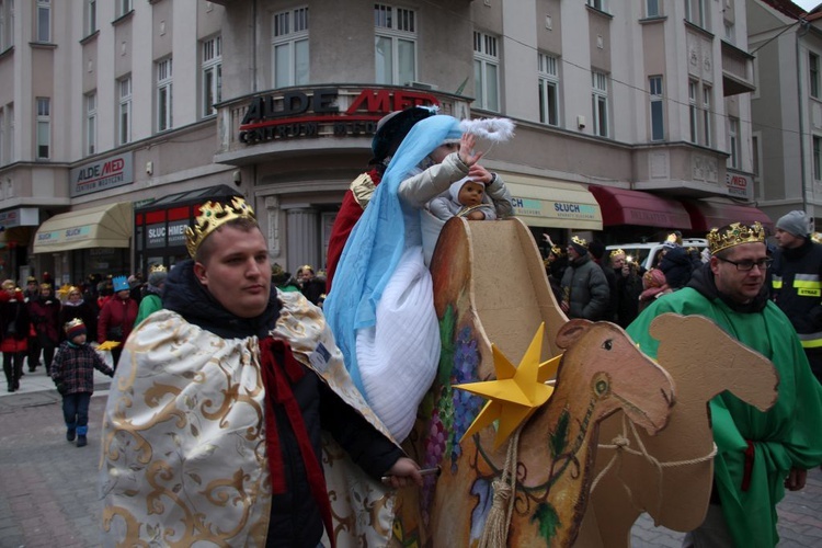
{"type": "Polygon", "coordinates": [[[27,349],[28,332],[32,329],[25,297],[14,282],[7,279],[0,292],[0,352],[3,353],[3,373],[9,391],[20,388],[23,376],[23,359],[27,349]]]}

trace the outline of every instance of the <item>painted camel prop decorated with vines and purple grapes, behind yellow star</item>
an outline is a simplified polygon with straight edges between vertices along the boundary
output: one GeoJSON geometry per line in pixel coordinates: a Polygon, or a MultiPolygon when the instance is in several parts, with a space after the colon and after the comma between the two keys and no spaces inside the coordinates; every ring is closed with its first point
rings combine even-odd
{"type": "Polygon", "coordinates": [[[431,271],[443,351],[403,447],[442,475],[427,476],[422,490],[401,490],[392,546],[476,545],[506,460],[516,487],[509,543],[569,546],[587,502],[597,421],[623,409],[657,432],[673,402],[670,376],[619,327],[567,321],[536,243],[516,219],[449,220],[431,271]],[[484,400],[454,385],[493,378],[491,341],[518,363],[541,322],[541,359],[566,353],[549,403],[522,427],[518,454],[493,449],[493,427],[460,443],[484,400]]]}

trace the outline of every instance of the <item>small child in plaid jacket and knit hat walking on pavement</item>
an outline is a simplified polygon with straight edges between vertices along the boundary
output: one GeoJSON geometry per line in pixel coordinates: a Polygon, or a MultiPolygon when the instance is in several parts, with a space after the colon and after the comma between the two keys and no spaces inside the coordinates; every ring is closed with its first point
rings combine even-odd
{"type": "Polygon", "coordinates": [[[52,380],[62,396],[62,416],[66,420],[66,439],[77,446],[88,444],[89,402],[94,392],[94,369],[114,376],[100,354],[85,343],[85,324],[75,318],[65,326],[66,341],[60,344],[52,363],[52,380]]]}

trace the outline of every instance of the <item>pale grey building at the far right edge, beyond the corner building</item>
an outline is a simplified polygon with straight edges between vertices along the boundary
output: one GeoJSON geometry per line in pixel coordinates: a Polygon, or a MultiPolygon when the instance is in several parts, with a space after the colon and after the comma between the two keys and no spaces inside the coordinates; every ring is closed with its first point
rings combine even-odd
{"type": "Polygon", "coordinates": [[[749,0],[754,54],[752,138],[756,199],[776,220],[792,209],[822,218],[822,26],[786,0],[749,0]]]}

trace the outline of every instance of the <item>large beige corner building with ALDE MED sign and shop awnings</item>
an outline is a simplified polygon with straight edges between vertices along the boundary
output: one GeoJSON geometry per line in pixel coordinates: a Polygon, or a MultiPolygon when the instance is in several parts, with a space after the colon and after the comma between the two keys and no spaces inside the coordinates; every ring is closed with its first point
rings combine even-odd
{"type": "Polygon", "coordinates": [[[537,236],[766,220],[746,36],[742,0],[0,0],[0,275],[173,264],[195,209],[151,204],[221,185],[273,261],[321,267],[376,122],[412,104],[516,123],[483,163],[537,236]]]}

